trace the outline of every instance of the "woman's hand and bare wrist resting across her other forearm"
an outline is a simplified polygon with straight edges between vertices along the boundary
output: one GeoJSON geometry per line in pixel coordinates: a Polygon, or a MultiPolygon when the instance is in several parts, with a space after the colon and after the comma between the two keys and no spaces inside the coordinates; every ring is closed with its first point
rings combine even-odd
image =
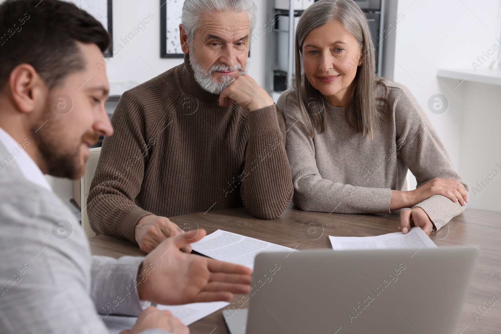
{"type": "Polygon", "coordinates": [[[463,206],[468,202],[468,194],[462,183],[455,179],[434,178],[414,190],[392,190],[390,210],[411,208],[433,195],[445,196],[463,206]]]}

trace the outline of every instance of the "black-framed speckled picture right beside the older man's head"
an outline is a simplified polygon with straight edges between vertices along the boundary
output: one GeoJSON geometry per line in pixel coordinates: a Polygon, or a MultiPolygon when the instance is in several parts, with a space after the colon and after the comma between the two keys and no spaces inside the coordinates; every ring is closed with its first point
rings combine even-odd
{"type": "Polygon", "coordinates": [[[179,24],[184,0],[160,0],[160,57],[183,58],[179,24]]]}

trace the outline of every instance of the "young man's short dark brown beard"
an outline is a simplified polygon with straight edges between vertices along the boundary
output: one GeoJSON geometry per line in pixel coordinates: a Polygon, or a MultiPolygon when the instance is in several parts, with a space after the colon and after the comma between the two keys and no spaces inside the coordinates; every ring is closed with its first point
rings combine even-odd
{"type": "Polygon", "coordinates": [[[83,173],[84,166],[81,165],[80,144],[75,148],[67,148],[68,138],[58,138],[61,134],[58,125],[59,117],[52,110],[51,103],[46,105],[40,122],[34,124],[31,131],[35,145],[40,152],[41,158],[47,170],[47,174],[68,179],[76,179],[83,173]],[[40,124],[47,123],[40,128],[40,124]],[[40,129],[39,129],[40,128],[40,129]],[[38,130],[38,131],[37,131],[38,130]],[[36,133],[35,133],[36,131],[36,133]]]}

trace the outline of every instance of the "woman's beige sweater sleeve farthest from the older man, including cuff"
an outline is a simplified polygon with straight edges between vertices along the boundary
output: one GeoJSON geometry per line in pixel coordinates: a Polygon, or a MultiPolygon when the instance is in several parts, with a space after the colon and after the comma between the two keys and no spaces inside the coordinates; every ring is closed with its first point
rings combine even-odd
{"type": "MultiPolygon", "coordinates": [[[[397,89],[400,90],[394,107],[397,141],[401,143],[404,164],[416,177],[417,187],[438,177],[461,182],[468,193],[468,185],[454,170],[442,141],[417,100],[404,86],[397,89]]],[[[431,196],[413,207],[422,208],[437,229],[466,208],[442,195],[431,196]]]]}

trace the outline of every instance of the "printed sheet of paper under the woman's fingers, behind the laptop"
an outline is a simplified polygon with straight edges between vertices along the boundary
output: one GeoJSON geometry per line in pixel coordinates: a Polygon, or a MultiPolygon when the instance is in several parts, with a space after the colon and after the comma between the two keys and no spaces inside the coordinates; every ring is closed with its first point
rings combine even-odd
{"type": "Polygon", "coordinates": [[[387,249],[387,248],[419,248],[436,247],[420,227],[412,227],[407,234],[402,232],[388,233],[377,236],[331,236],[332,249],[387,249]]]}

